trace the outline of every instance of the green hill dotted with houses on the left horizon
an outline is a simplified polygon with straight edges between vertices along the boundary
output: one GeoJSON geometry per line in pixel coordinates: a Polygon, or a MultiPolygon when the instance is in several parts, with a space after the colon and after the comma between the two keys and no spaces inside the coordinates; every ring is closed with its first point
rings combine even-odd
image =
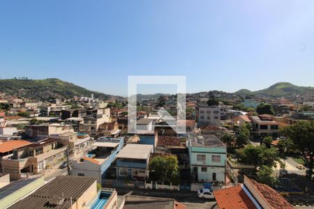
{"type": "Polygon", "coordinates": [[[0,91],[8,95],[24,98],[47,100],[53,98],[73,98],[73,96],[91,96],[107,99],[110,95],[76,86],[60,79],[0,79],[0,91]]]}

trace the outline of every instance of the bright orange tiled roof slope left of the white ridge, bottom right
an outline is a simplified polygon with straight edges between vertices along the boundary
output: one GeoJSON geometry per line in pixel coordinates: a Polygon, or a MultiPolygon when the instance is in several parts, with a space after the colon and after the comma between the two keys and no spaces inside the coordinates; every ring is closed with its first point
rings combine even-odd
{"type": "Polygon", "coordinates": [[[255,204],[248,197],[241,185],[214,191],[220,209],[254,209],[255,204]]]}

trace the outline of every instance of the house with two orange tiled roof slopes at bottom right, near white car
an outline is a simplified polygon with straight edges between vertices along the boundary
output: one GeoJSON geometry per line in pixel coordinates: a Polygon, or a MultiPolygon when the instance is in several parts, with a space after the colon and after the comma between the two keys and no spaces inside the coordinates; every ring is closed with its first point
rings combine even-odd
{"type": "Polygon", "coordinates": [[[271,187],[244,176],[244,183],[218,189],[214,196],[219,209],[292,209],[281,194],[271,187]]]}

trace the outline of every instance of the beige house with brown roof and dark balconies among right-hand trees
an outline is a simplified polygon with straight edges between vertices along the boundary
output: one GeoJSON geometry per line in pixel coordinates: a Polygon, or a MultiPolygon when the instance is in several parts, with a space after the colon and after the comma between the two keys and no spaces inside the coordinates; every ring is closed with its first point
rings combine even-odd
{"type": "Polygon", "coordinates": [[[259,116],[249,116],[252,121],[251,134],[257,137],[273,136],[277,137],[279,123],[274,121],[274,116],[262,114],[259,116]]]}

